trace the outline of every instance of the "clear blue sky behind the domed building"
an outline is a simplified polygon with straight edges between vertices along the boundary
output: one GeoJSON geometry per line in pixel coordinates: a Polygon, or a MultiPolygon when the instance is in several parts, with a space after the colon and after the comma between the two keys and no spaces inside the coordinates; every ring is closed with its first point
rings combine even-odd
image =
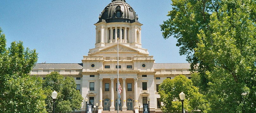
{"type": "MultiPolygon", "coordinates": [[[[111,0],[1,0],[0,27],[7,39],[36,49],[38,63],[80,63],[94,48],[99,14],[111,0]]],[[[177,39],[163,39],[159,27],[167,20],[171,0],[126,0],[142,26],[142,47],[156,63],[186,63],[177,39]]]]}

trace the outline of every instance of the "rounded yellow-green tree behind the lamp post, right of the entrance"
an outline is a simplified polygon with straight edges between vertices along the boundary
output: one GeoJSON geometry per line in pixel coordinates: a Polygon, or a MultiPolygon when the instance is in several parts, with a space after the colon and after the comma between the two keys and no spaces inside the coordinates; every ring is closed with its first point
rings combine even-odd
{"type": "Polygon", "coordinates": [[[204,96],[198,92],[198,88],[193,86],[192,81],[184,75],[174,77],[174,79],[165,79],[159,86],[159,95],[164,106],[163,112],[181,112],[181,101],[179,94],[184,92],[184,109],[193,113],[207,113],[208,104],[204,96]],[[200,111],[199,111],[200,110],[200,111]]]}

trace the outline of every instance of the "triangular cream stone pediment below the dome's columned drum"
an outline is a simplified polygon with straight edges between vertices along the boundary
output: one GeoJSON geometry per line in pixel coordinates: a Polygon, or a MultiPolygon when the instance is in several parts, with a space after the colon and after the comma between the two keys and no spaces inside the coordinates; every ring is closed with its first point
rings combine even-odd
{"type": "MultiPolygon", "coordinates": [[[[117,52],[117,45],[107,47],[99,52],[117,52]]],[[[119,44],[119,52],[139,52],[135,49],[119,44]]]]}

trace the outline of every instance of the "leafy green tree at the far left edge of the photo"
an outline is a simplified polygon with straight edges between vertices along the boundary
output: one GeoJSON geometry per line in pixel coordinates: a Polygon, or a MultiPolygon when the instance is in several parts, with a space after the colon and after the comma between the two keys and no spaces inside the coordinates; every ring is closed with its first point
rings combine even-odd
{"type": "Polygon", "coordinates": [[[6,48],[0,28],[0,112],[45,113],[45,96],[41,79],[31,77],[37,62],[35,50],[24,49],[23,43],[12,42],[6,48]]]}

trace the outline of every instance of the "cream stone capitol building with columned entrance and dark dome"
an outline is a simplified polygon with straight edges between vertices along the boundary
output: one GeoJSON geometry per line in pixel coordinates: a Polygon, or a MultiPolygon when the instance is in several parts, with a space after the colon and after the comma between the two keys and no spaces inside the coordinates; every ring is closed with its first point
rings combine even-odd
{"type": "MultiPolygon", "coordinates": [[[[95,21],[97,21],[95,19],[95,21]]],[[[150,98],[150,113],[162,112],[158,86],[179,74],[190,79],[189,63],[155,63],[141,44],[141,24],[125,0],[112,0],[99,16],[95,48],[83,56],[82,63],[37,63],[31,75],[44,77],[57,71],[73,77],[76,89],[88,104],[98,103],[98,112],[117,110],[117,68],[122,87],[119,110],[139,112],[139,105],[150,98]],[[117,40],[119,38],[119,40],[117,40]],[[117,65],[119,41],[119,66],[117,65]]],[[[81,111],[86,104],[82,102],[81,111]]],[[[142,108],[140,107],[142,110],[142,108]]]]}

